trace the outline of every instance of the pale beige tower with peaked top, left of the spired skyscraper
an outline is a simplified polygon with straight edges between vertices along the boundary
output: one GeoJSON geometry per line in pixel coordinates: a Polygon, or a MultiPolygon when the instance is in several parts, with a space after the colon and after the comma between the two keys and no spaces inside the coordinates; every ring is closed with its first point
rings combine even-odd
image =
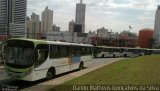
{"type": "Polygon", "coordinates": [[[41,16],[41,32],[45,33],[47,31],[52,31],[52,25],[53,25],[53,10],[48,9],[48,7],[45,8],[45,10],[42,12],[41,16]]]}

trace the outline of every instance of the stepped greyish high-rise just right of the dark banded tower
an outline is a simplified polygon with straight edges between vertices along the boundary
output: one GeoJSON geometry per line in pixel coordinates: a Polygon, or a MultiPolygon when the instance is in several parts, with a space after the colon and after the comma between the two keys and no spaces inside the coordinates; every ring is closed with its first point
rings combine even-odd
{"type": "Polygon", "coordinates": [[[38,39],[41,33],[41,22],[39,15],[32,13],[31,20],[27,19],[27,37],[38,39]]]}

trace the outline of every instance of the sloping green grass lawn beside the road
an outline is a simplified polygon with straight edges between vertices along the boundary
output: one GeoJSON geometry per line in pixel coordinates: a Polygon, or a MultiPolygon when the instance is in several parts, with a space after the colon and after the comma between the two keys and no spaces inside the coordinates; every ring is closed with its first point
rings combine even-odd
{"type": "Polygon", "coordinates": [[[70,91],[73,85],[160,85],[160,55],[121,60],[49,91],[70,91]]]}

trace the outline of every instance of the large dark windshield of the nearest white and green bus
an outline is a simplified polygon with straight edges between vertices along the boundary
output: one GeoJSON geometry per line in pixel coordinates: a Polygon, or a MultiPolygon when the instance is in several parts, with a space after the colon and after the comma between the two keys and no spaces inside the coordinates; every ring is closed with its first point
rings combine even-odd
{"type": "Polygon", "coordinates": [[[17,41],[7,45],[6,65],[14,68],[31,67],[34,63],[33,48],[24,46],[25,42],[14,43],[17,43],[17,41]]]}

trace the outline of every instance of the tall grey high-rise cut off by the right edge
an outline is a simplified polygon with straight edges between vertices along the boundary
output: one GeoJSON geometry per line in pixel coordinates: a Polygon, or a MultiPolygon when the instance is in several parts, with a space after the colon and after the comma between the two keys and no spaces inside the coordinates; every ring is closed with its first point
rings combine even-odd
{"type": "Polygon", "coordinates": [[[158,6],[155,15],[154,39],[155,39],[154,46],[160,47],[160,6],[158,6]]]}

